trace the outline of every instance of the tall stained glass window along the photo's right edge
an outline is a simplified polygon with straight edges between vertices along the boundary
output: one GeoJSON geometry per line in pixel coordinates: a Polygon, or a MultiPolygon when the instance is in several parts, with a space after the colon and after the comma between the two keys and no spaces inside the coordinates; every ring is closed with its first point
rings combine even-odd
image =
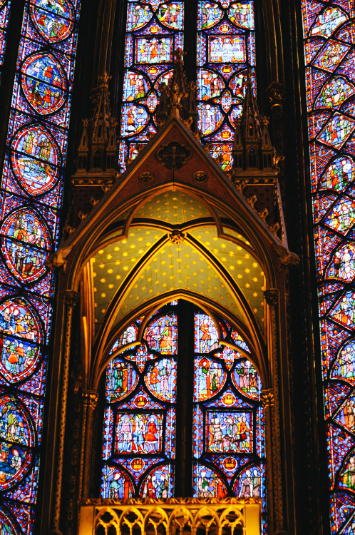
{"type": "Polygon", "coordinates": [[[331,532],[355,528],[354,2],[302,1],[331,532]]]}

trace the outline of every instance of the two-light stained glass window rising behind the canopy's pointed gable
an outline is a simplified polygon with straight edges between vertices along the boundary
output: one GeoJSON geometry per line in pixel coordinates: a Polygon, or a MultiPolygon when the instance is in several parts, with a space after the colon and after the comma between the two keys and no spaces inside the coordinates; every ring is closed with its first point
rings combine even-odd
{"type": "MultiPolygon", "coordinates": [[[[254,4],[198,1],[197,107],[202,143],[223,170],[232,168],[236,121],[242,113],[247,73],[255,90],[254,4]]],[[[120,167],[133,160],[156,131],[160,83],[173,76],[174,51],[184,45],[183,2],[130,1],[120,124],[120,167]]],[[[189,52],[189,51],[187,51],[189,52]]],[[[189,58],[191,61],[191,58],[189,58]]]]}

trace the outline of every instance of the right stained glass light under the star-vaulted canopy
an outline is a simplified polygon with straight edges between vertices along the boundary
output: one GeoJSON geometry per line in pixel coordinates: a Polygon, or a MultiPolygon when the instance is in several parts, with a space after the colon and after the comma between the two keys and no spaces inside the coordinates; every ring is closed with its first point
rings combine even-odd
{"type": "MultiPolygon", "coordinates": [[[[230,327],[228,337],[249,351],[230,327]]],[[[264,531],[262,384],[252,362],[240,352],[228,347],[220,350],[217,329],[202,313],[195,314],[194,384],[194,496],[262,497],[264,531]]]]}

